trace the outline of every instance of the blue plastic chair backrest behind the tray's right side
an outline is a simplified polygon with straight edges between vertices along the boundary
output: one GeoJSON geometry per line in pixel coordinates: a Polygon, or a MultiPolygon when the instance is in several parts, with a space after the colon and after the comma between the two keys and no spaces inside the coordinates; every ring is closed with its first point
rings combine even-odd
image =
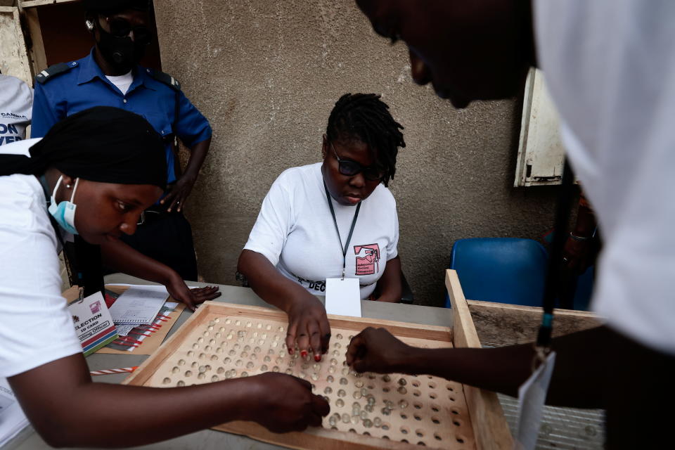
{"type": "Polygon", "coordinates": [[[469,300],[540,307],[547,260],[544,246],[532,239],[459,239],[450,269],[457,271],[469,300]]]}

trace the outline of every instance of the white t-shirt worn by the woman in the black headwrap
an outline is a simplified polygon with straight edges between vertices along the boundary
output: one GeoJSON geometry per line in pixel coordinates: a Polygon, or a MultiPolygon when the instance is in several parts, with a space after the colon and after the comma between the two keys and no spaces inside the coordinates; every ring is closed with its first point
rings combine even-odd
{"type": "MultiPolygon", "coordinates": [[[[0,147],[27,155],[39,139],[0,147]]],[[[61,297],[58,243],[32,175],[0,176],[0,378],[82,352],[61,297]]]]}

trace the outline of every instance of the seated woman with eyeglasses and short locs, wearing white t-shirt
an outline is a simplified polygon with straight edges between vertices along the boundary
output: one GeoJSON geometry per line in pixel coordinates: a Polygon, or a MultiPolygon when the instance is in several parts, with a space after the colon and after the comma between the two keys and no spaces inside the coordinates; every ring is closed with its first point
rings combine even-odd
{"type": "Polygon", "coordinates": [[[328,117],[323,161],[285,170],[263,200],[238,271],[288,314],[286,345],[321,361],[326,278],[359,278],[361,299],[401,300],[399,221],[387,184],[406,144],[375,94],[345,94],[328,117]]]}

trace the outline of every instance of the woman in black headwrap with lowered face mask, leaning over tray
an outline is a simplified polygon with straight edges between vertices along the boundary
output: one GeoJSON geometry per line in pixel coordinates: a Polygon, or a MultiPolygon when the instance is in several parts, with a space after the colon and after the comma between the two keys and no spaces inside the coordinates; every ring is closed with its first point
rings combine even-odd
{"type": "MultiPolygon", "coordinates": [[[[0,377],[8,378],[46,442],[139,445],[229,420],[255,420],[276,432],[320,425],[326,402],[311,394],[309,383],[278,373],[161,390],[91,382],[60,297],[57,250],[79,233],[102,245],[108,264],[129,261],[127,271],[150,279],[165,273],[165,266],[133,250],[125,254],[117,239],[134,232],[165,184],[163,144],[146,120],[91,108],[56,124],[37,143],[1,151],[0,377]]],[[[167,288],[191,302],[216,295],[172,281],[167,288]]]]}

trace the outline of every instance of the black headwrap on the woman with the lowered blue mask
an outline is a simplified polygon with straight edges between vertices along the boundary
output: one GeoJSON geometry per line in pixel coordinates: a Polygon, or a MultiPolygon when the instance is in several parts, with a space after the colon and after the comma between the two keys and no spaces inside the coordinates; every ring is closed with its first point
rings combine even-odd
{"type": "Polygon", "coordinates": [[[69,176],[116,184],[167,186],[165,145],[140,115],[96,106],[55,124],[24,155],[0,155],[0,176],[44,174],[56,167],[69,176]]]}

